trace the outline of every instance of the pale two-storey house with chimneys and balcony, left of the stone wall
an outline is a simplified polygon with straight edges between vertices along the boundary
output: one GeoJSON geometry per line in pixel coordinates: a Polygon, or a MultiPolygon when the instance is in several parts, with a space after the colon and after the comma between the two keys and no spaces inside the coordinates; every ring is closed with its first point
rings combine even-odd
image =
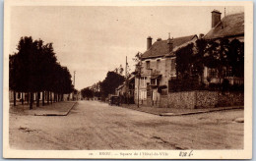
{"type": "Polygon", "coordinates": [[[161,40],[152,44],[147,38],[147,51],[142,54],[141,77],[135,80],[135,102],[145,105],[158,105],[160,95],[168,93],[168,81],[176,77],[175,51],[189,43],[194,43],[196,34],[161,40]],[[138,94],[139,93],[139,94],[138,94]],[[138,99],[139,98],[139,99],[138,99]]]}

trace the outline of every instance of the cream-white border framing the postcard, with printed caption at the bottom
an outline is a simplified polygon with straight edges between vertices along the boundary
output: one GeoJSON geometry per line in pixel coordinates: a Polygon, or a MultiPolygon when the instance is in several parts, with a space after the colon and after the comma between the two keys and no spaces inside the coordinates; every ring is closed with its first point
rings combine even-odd
{"type": "MultiPolygon", "coordinates": [[[[3,156],[5,158],[101,158],[101,159],[251,159],[252,158],[252,80],[253,80],[253,2],[191,2],[191,1],[84,1],[84,0],[5,0],[4,71],[3,71],[3,156]],[[245,12],[245,86],[244,86],[244,149],[194,150],[190,157],[180,157],[180,151],[190,150],[14,150],[9,147],[9,44],[10,14],[13,6],[244,6],[245,12]],[[99,152],[111,152],[110,156],[99,152]],[[89,153],[94,155],[89,155],[89,153]],[[120,152],[167,152],[168,156],[129,156],[120,152]]],[[[235,140],[234,140],[235,141],[235,140]]]]}

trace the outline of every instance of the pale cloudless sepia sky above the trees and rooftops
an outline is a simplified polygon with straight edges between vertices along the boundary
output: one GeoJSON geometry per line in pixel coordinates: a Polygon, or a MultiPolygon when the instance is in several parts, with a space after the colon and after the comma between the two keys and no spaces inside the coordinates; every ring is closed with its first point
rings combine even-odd
{"type": "Polygon", "coordinates": [[[125,66],[131,72],[132,58],[145,52],[147,37],[167,39],[206,34],[211,29],[211,12],[243,12],[242,7],[96,7],[23,6],[11,10],[10,51],[17,52],[22,36],[53,43],[58,62],[69,69],[75,87],[82,89],[104,80],[108,71],[125,66]]]}

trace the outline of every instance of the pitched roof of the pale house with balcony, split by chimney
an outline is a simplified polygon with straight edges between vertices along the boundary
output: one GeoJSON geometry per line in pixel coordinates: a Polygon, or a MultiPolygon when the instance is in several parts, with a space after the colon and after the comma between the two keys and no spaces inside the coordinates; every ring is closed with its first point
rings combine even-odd
{"type": "MultiPolygon", "coordinates": [[[[191,41],[195,36],[197,35],[193,34],[189,36],[173,38],[173,49],[188,41],[191,41]]],[[[164,56],[166,54],[169,54],[169,46],[167,44],[167,40],[160,40],[160,41],[156,41],[151,46],[151,48],[142,55],[142,59],[156,58],[156,57],[164,56]]]]}

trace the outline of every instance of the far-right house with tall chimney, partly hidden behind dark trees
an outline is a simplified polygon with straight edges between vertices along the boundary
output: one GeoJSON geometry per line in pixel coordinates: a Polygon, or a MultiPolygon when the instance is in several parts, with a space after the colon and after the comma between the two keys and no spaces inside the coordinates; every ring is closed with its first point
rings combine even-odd
{"type": "MultiPolygon", "coordinates": [[[[229,41],[238,39],[240,42],[244,42],[244,13],[227,15],[222,18],[222,13],[217,10],[212,12],[212,28],[203,37],[206,40],[220,40],[226,38],[229,41]]],[[[229,80],[230,84],[242,84],[243,78],[233,77],[231,69],[225,69],[224,79],[229,80]]],[[[205,67],[204,69],[204,82],[219,82],[217,70],[205,67]],[[209,80],[208,78],[211,78],[209,80]]]]}

